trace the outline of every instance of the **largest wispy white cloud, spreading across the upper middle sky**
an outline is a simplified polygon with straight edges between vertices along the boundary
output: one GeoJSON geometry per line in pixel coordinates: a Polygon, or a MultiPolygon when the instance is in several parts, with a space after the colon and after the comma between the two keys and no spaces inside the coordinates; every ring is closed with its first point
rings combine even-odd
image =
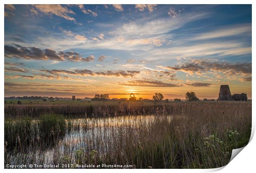
{"type": "MultiPolygon", "coordinates": [[[[72,49],[74,47],[81,49],[114,49],[114,50],[126,50],[134,51],[140,50],[141,54],[152,54],[158,49],[152,49],[154,46],[160,46],[165,42],[170,42],[172,30],[176,30],[183,26],[185,23],[192,22],[198,19],[206,18],[206,13],[201,14],[184,14],[176,18],[161,18],[157,20],[144,21],[134,20],[128,23],[116,24],[102,24],[97,23],[98,27],[107,27],[110,29],[108,37],[104,40],[95,42],[92,39],[86,40],[86,44],[81,44],[76,39],[69,37],[40,37],[36,41],[38,45],[40,43],[52,45],[54,49],[72,49]],[[114,29],[113,29],[114,27],[114,29]],[[159,40],[161,43],[159,44],[159,40]],[[165,41],[164,41],[165,40],[165,41]]],[[[99,39],[99,37],[97,37],[99,39]]],[[[96,39],[95,39],[96,40],[96,39]]],[[[176,45],[177,46],[177,45],[176,45]]],[[[162,47],[164,48],[164,47],[162,47]]],[[[175,47],[171,47],[175,48],[175,47]]],[[[197,51],[198,52],[198,51],[197,51]]],[[[161,51],[161,53],[168,53],[168,50],[161,51]]],[[[146,55],[148,57],[148,55],[146,55]]],[[[153,56],[159,57],[159,56],[153,56]]]]}

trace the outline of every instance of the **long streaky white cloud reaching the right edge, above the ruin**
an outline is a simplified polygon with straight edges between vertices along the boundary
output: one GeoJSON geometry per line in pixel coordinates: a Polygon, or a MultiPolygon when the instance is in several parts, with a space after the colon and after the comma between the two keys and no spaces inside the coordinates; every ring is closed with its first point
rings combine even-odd
{"type": "Polygon", "coordinates": [[[148,60],[156,60],[170,58],[195,58],[195,57],[223,57],[223,56],[239,56],[251,54],[251,46],[244,45],[242,42],[218,41],[205,42],[185,46],[173,46],[154,49],[154,51],[144,51],[137,56],[147,56],[148,60]]]}

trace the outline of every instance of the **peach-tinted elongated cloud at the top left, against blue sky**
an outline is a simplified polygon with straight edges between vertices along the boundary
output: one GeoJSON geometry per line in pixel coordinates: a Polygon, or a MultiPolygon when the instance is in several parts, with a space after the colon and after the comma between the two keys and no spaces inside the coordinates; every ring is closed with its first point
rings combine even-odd
{"type": "Polygon", "coordinates": [[[72,10],[63,7],[62,5],[53,5],[53,4],[44,4],[44,5],[33,5],[40,12],[43,12],[48,15],[55,14],[56,16],[62,17],[66,20],[76,21],[73,17],[69,16],[69,14],[75,14],[72,10]]]}

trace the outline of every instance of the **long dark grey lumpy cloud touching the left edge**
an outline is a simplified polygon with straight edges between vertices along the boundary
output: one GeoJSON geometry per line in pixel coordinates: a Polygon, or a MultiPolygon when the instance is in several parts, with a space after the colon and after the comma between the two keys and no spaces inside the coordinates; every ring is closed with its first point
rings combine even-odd
{"type": "Polygon", "coordinates": [[[8,58],[24,58],[36,60],[55,60],[55,61],[72,61],[72,62],[90,62],[94,61],[95,57],[90,55],[86,58],[73,51],[59,51],[52,49],[39,49],[38,47],[22,47],[18,44],[14,46],[5,45],[5,57],[8,58]]]}

